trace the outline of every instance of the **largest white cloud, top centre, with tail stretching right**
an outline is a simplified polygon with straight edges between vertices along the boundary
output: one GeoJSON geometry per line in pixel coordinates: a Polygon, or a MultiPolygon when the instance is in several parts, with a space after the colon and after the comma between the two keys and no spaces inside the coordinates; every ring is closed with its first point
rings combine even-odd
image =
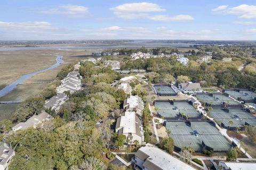
{"type": "Polygon", "coordinates": [[[118,18],[133,20],[133,19],[149,19],[154,21],[190,21],[194,20],[194,18],[190,15],[155,15],[151,14],[152,12],[165,12],[166,9],[154,3],[127,3],[123,5],[119,5],[110,10],[114,11],[114,14],[118,16],[118,18]]]}

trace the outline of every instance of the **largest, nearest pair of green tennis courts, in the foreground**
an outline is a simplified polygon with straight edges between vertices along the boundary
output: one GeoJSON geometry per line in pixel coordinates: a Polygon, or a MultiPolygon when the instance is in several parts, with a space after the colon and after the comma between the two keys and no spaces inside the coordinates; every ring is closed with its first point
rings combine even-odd
{"type": "Polygon", "coordinates": [[[171,131],[170,137],[174,140],[175,147],[192,147],[196,152],[201,152],[205,146],[213,151],[227,151],[231,145],[223,135],[209,122],[166,122],[166,129],[171,131]],[[198,134],[195,135],[194,131],[198,134]]]}

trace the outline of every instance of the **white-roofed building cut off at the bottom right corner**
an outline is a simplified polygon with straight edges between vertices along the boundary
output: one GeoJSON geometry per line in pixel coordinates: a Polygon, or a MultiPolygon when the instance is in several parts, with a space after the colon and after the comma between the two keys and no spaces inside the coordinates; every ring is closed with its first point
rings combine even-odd
{"type": "Polygon", "coordinates": [[[255,170],[256,163],[250,162],[219,162],[223,170],[255,170]]]}

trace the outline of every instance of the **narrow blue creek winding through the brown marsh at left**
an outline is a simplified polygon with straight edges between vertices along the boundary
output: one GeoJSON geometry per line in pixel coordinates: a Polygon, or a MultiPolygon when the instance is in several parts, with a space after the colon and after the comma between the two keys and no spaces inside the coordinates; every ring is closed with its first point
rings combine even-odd
{"type": "Polygon", "coordinates": [[[47,70],[54,69],[54,68],[60,66],[61,63],[63,63],[62,56],[57,55],[55,60],[56,60],[56,63],[51,65],[47,69],[43,69],[43,70],[39,70],[39,71],[36,71],[36,72],[33,72],[33,73],[28,73],[28,74],[22,75],[21,77],[19,77],[17,80],[12,82],[11,84],[5,86],[2,90],[0,90],[0,97],[3,97],[7,93],[9,93],[13,89],[15,89],[19,83],[24,82],[25,80],[30,78],[32,75],[42,73],[42,72],[45,72],[47,70]]]}

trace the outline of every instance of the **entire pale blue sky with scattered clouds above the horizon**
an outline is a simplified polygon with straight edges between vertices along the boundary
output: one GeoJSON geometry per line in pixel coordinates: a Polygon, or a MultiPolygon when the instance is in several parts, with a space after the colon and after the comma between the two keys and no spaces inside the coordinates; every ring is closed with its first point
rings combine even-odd
{"type": "Polygon", "coordinates": [[[0,1],[0,40],[75,39],[256,40],[256,1],[0,1]]]}

